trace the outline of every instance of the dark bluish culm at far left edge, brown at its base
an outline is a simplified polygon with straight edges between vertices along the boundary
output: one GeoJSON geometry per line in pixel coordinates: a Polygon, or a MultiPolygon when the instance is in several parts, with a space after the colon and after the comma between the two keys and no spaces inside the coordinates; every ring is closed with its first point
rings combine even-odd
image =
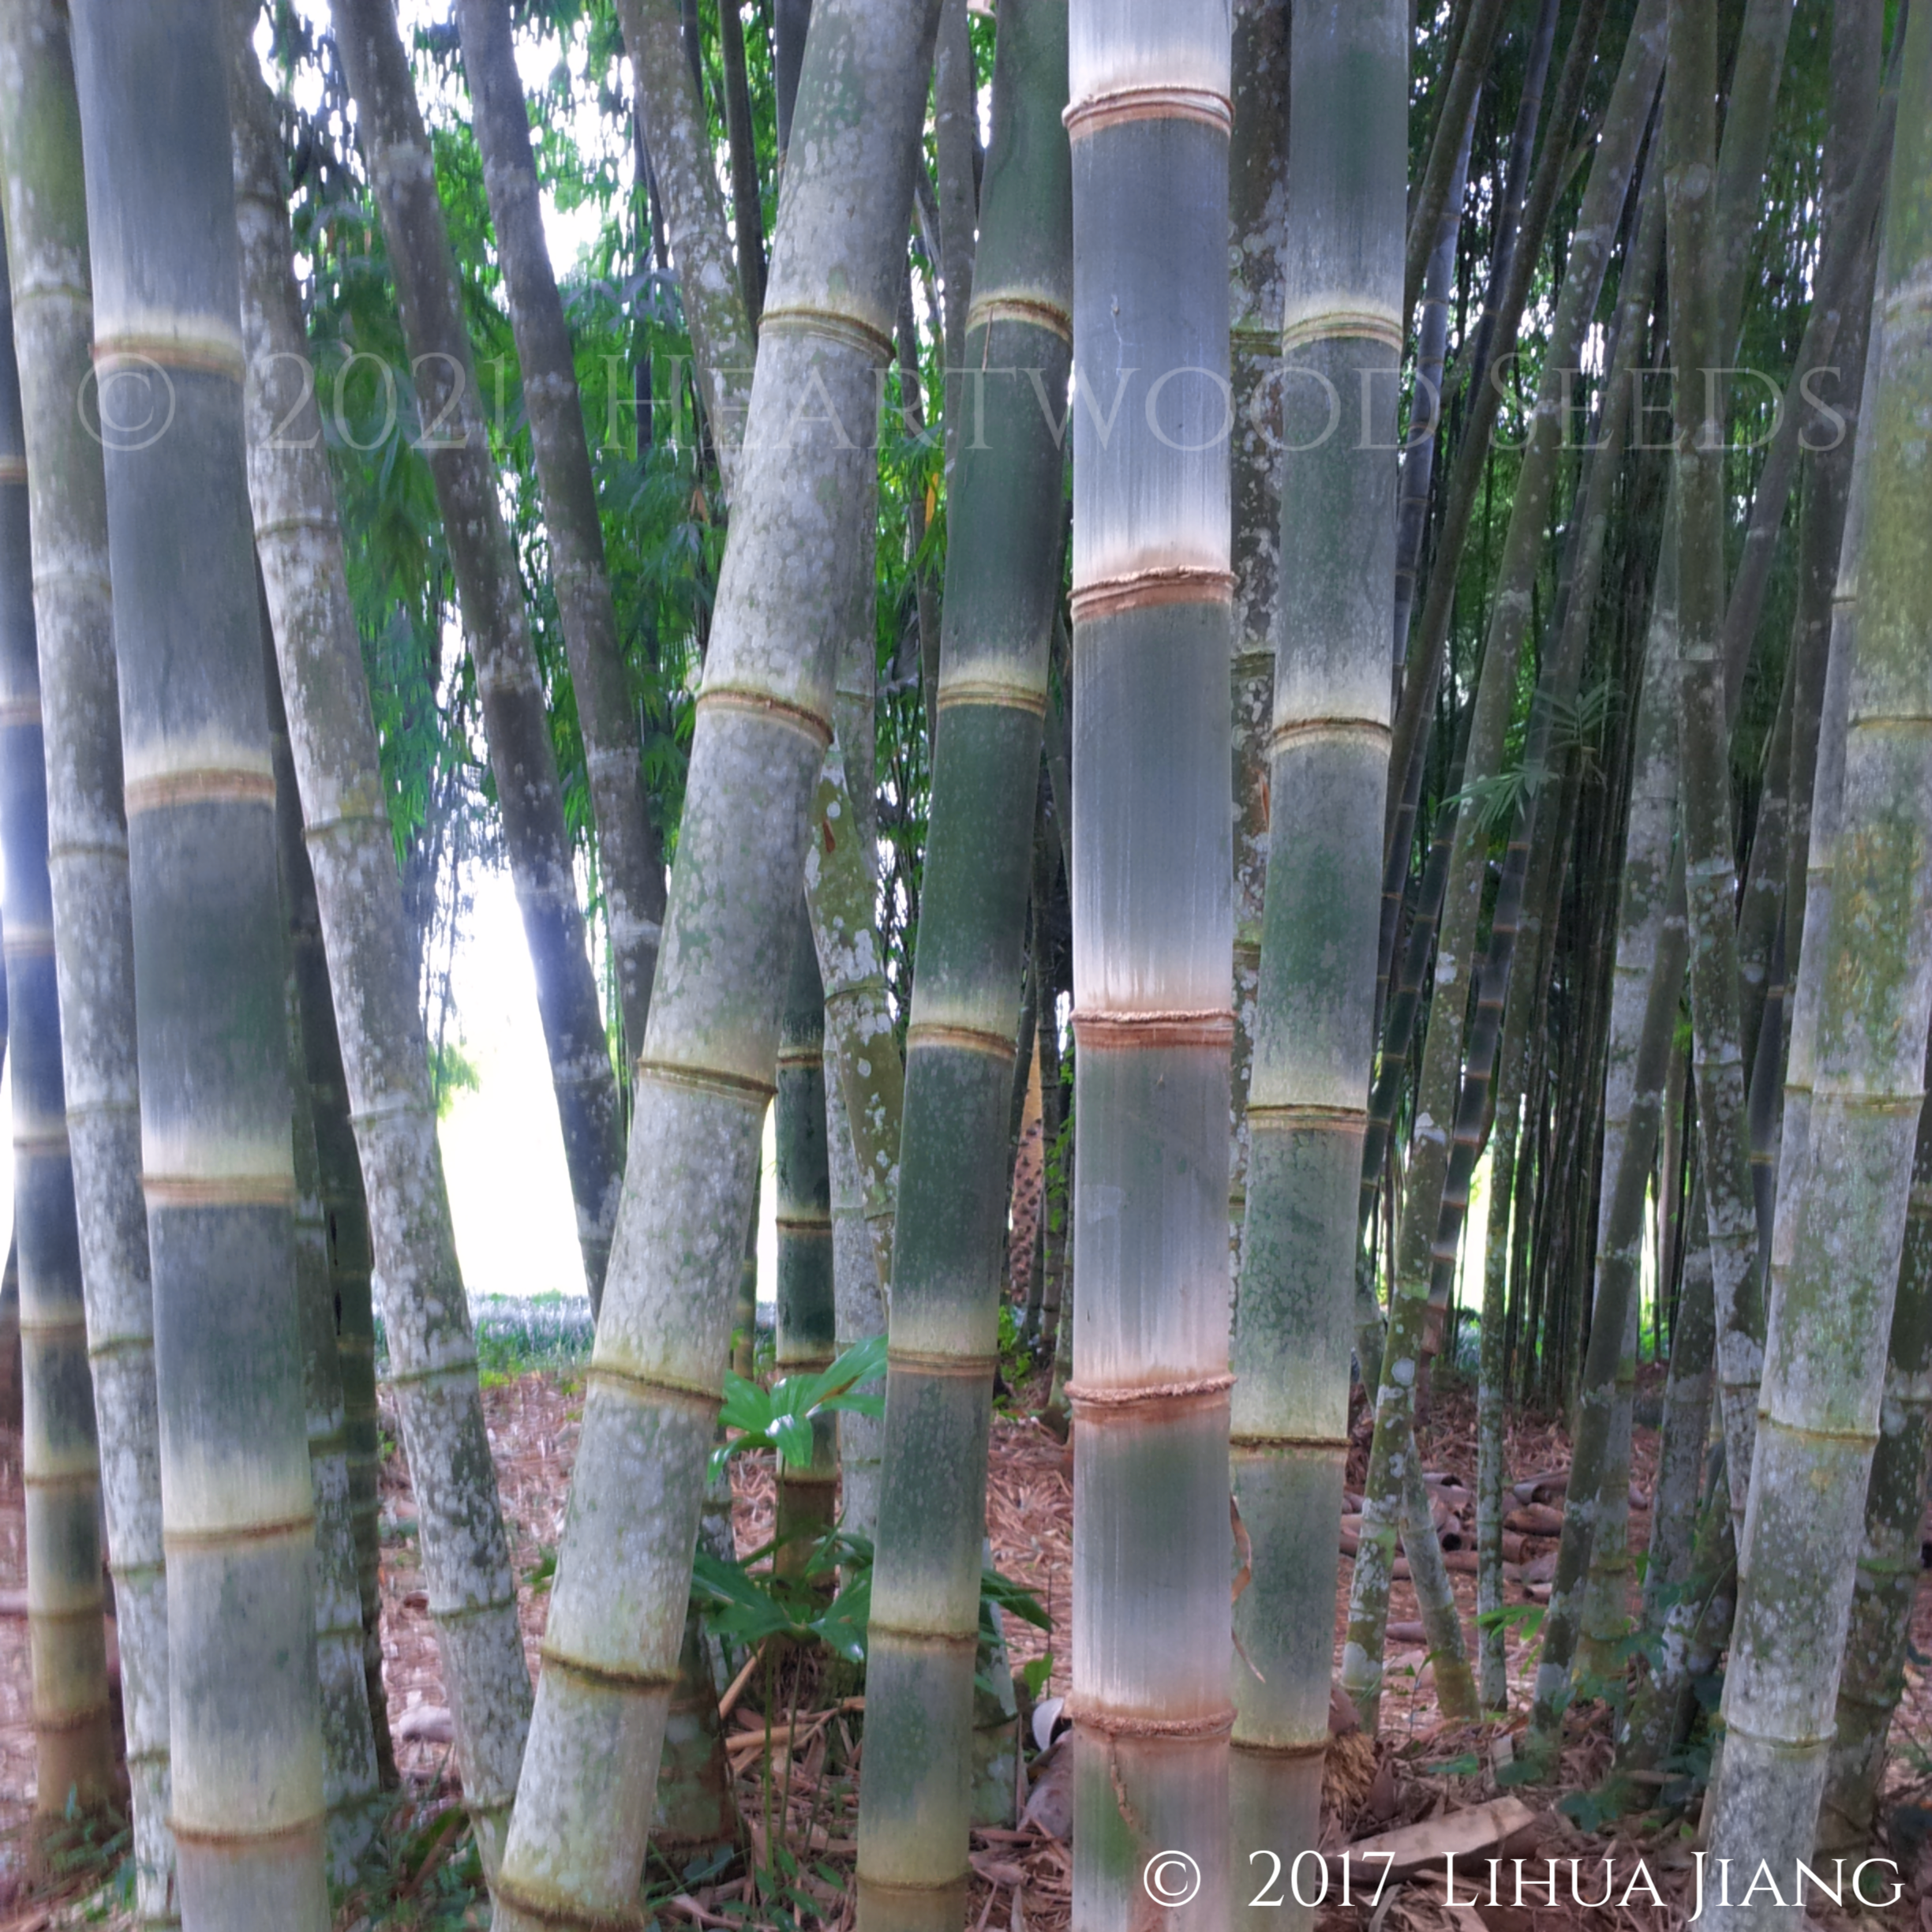
{"type": "Polygon", "coordinates": [[[100,1588],[100,1447],[87,1364],[81,1231],[60,1065],[46,753],[33,628],[27,454],[0,257],[0,846],[6,854],[8,1043],[14,1051],[14,1238],[19,1256],[21,1482],[35,1808],[95,1810],[114,1781],[100,1588]]]}

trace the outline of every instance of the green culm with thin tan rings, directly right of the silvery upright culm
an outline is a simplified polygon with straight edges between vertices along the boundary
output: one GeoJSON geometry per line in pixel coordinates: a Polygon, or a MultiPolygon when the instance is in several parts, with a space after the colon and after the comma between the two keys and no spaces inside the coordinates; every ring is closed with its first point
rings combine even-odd
{"type": "MultiPolygon", "coordinates": [[[[1403,0],[1304,0],[1281,336],[1281,574],[1294,593],[1267,784],[1287,837],[1267,860],[1233,1343],[1235,1505],[1252,1548],[1235,1605],[1236,1849],[1320,1835],[1389,779],[1406,128],[1403,0]],[[1331,394],[1374,398],[1356,435],[1320,435],[1331,394]]],[[[1240,1922],[1281,1917],[1250,1905],[1240,1922]]]]}

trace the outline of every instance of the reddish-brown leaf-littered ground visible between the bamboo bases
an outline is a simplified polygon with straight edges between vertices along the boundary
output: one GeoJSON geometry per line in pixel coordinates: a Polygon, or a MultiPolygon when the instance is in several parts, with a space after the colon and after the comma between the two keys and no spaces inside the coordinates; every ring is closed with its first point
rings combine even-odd
{"type": "MultiPolygon", "coordinates": [[[[1648,1379],[1648,1376],[1646,1376],[1648,1379]]],[[[1022,1389],[1020,1397],[1034,1391],[1022,1389]]],[[[520,1577],[526,1652],[531,1669],[537,1665],[537,1644],[549,1607],[547,1578],[562,1528],[570,1466],[576,1455],[582,1418],[582,1383],[570,1372],[543,1370],[498,1381],[485,1389],[483,1405],[489,1422],[491,1447],[497,1455],[498,1484],[510,1520],[514,1561],[520,1577]]],[[[437,1646],[423,1594],[415,1507],[408,1472],[394,1453],[394,1426],[388,1420],[384,1447],[388,1449],[383,1478],[383,1652],[388,1687],[390,1723],[396,1735],[396,1756],[404,1776],[404,1791],[384,1833],[392,1849],[392,1874],[379,1897],[355,1897],[346,1903],[340,1932],[375,1932],[375,1928],[417,1926],[423,1932],[456,1932],[458,1926],[487,1924],[487,1909],[473,1889],[462,1882],[460,1868],[448,1857],[452,1835],[435,1830],[435,1818],[456,1797],[456,1777],[450,1750],[450,1719],[437,1646]],[[440,1868],[439,1868],[440,1866],[440,1868]],[[435,1882],[431,1882],[435,1878],[435,1882]]],[[[1356,1447],[1349,1466],[1349,1490],[1360,1488],[1366,1464],[1366,1414],[1356,1412],[1356,1447]]],[[[1461,1381],[1443,1381],[1422,1430],[1426,1466],[1451,1480],[1453,1486],[1474,1488],[1474,1403],[1461,1381]]],[[[1509,1474],[1526,1482],[1538,1474],[1561,1470],[1569,1461],[1561,1430],[1548,1422],[1520,1422],[1509,1439],[1509,1474]]],[[[1633,1503],[1650,1493],[1656,1461],[1656,1434],[1636,1430],[1633,1468],[1633,1503]]],[[[1546,1490],[1546,1495],[1551,1492],[1546,1490]]],[[[1557,1501],[1561,1497],[1557,1495],[1557,1501]]],[[[740,1549],[769,1540],[773,1519],[773,1468],[767,1459],[740,1457],[734,1463],[734,1530],[740,1549]]],[[[1468,1544],[1468,1515],[1463,1515],[1463,1542],[1468,1544]]],[[[1009,1648],[1014,1667],[1043,1652],[1051,1654],[1051,1669],[1041,1685],[1041,1696],[1065,1694],[1070,1658],[1070,1530],[1072,1474],[1070,1453],[1037,1422],[1024,1414],[1001,1416],[993,1430],[993,1466],[987,1495],[987,1532],[997,1567],[1034,1592],[1051,1619],[1051,1633],[1034,1629],[1014,1617],[1007,1619],[1009,1648]]],[[[1631,1540],[1640,1549],[1648,1536],[1648,1513],[1633,1507],[1631,1540]]],[[[1455,1542],[1455,1530],[1445,1530],[1445,1546],[1455,1542]]],[[[1532,1604],[1538,1590],[1536,1557],[1548,1557],[1553,1540],[1532,1540],[1522,1551],[1524,1575],[1511,1580],[1509,1602],[1532,1604]]],[[[1451,1561],[1457,1561],[1451,1555],[1451,1561]]],[[[37,1833],[31,1822],[35,1795],[33,1733],[29,1723],[27,1625],[23,1586],[23,1519],[19,1437],[0,1432],[0,1932],[56,1932],[64,1926],[102,1924],[112,1928],[131,1924],[116,1899],[120,1888],[99,1888],[93,1895],[75,1897],[87,1888],[81,1880],[99,1872],[102,1847],[77,1837],[70,1828],[56,1845],[54,1866],[46,1859],[27,1857],[37,1833]]],[[[1455,1575],[1455,1588],[1464,1611],[1464,1627],[1474,1631],[1474,1577],[1455,1575]]],[[[1349,1561],[1341,1563],[1335,1598],[1337,1663],[1341,1631],[1347,1621],[1349,1561]]],[[[1528,1623],[1532,1619],[1524,1619],[1528,1623]]],[[[1406,1582],[1397,1582],[1389,1607],[1389,1673],[1383,1698],[1381,1733],[1370,1743],[1358,1731],[1331,1741],[1323,1779],[1321,1845],[1335,1853],[1345,1845],[1374,1839],[1405,1826],[1443,1820],[1457,1812],[1493,1804],[1509,1787],[1509,1735],[1520,1729],[1528,1706],[1528,1685],[1534,1673],[1536,1638],[1524,1623],[1509,1631],[1509,1679],[1513,1723],[1445,1725],[1435,1704],[1434,1673],[1428,1665],[1418,1609],[1406,1582]],[[1501,1783],[1497,1772],[1501,1770],[1501,1783]]],[[[1920,1592],[1915,1623],[1915,1660],[1899,1721],[1893,1731],[1893,1768],[1889,1776],[1889,1816],[1899,1864],[1905,1868],[1907,1895],[1884,1913],[1868,1915],[1864,1922],[1917,1926],[1932,1932],[1932,1847],[1926,1824],[1932,1822],[1932,1586],[1920,1592]]],[[[852,1922],[848,1880],[854,1859],[856,1776],[852,1766],[840,1766],[850,1731],[840,1733],[840,1714],[811,1710],[811,1683],[790,1683],[781,1694],[786,1710],[773,1721],[792,1718],[790,1696],[798,1698],[794,1750],[782,1745],[771,1750],[771,1783],[765,1783],[765,1716],[757,1712],[757,1689],[748,1685],[728,1719],[728,1748],[738,1774],[740,1808],[753,1820],[753,1843],[759,1864],[771,1866],[763,1855],[765,1820],[773,1835],[811,1857],[790,1880],[790,1917],[767,1901],[748,1911],[746,1880],[690,1882],[668,1880],[657,1888],[659,1926],[811,1926],[844,1928],[852,1922]],[[782,1824],[781,1824],[782,1820],[782,1824]]],[[[1345,1719],[1343,1719],[1345,1721],[1345,1719]]],[[[1492,1907],[1488,1895],[1480,1907],[1463,1903],[1466,1884],[1451,1899],[1443,1893],[1439,1853],[1434,1876],[1422,1872],[1393,1886],[1381,1911],[1360,1903],[1352,1907],[1325,1905],[1320,1913],[1321,1932],[1557,1932],[1590,1924],[1596,1932],[1673,1932],[1689,1917],[1690,1843],[1683,1824],[1658,1830],[1650,1820],[1625,1820],[1640,1835],[1621,1835],[1617,1826],[1586,1833],[1577,1822],[1577,1806],[1555,1808],[1563,1791],[1586,1791],[1607,1768],[1611,1756],[1611,1718],[1605,1706],[1580,1710],[1571,1718],[1563,1758],[1563,1777],[1553,1787],[1509,1787],[1507,1797],[1522,1801],[1532,1816],[1511,1812],[1515,1820],[1507,1841],[1490,1841],[1480,1857],[1461,1859],[1461,1872],[1474,1864],[1486,1870],[1484,1859],[1503,1857],[1503,1897],[1509,1899],[1509,1859],[1522,1857],[1532,1880],[1544,1872],[1546,1859],[1559,1861],[1563,1889],[1575,1882],[1582,1899],[1604,1891],[1604,1861],[1613,1859],[1621,1895],[1633,1874],[1634,1861],[1644,1859],[1663,1903],[1650,1903],[1638,1888],[1629,1905],[1611,1903],[1600,1909],[1578,1909],[1569,1897],[1551,1909],[1542,1903],[1492,1907]],[[1648,1835],[1644,1835],[1648,1833],[1648,1835]],[[1571,1880],[1567,1861],[1578,1859],[1578,1876],[1571,1880]]],[[[1066,1748],[1057,1750],[1034,1768],[1036,1789],[1065,1779],[1066,1748]]],[[[1036,1810],[1053,1818],[1053,1791],[1036,1810]]],[[[1584,1816],[1588,1816],[1584,1812],[1584,1816]]],[[[1466,1820],[1474,1822],[1474,1820],[1466,1820]]],[[[106,1847],[112,1853],[112,1845],[106,1847]]],[[[1051,1835],[1039,1824],[1024,1824],[1018,1832],[981,1832],[974,1835],[974,1886],[966,1917],[972,1932],[1061,1932],[1070,1915],[1070,1853],[1063,1837],[1051,1835]]],[[[471,1861],[473,1864],[473,1861],[471,1861]]],[[[1256,1866],[1260,1874],[1262,1864],[1256,1866]]],[[[1356,1866],[1358,1874],[1362,1866],[1356,1866]]],[[[1236,1872],[1236,1876],[1240,1876],[1236,1872]]],[[[1360,1884],[1360,1878],[1358,1878],[1360,1884]]],[[[1532,1893],[1540,1901],[1540,1893],[1532,1893]]],[[[1843,1926],[1855,1920],[1832,1913],[1816,1913],[1822,1926],[1843,1926]]],[[[267,1932],[267,1928],[265,1928],[267,1932]]]]}

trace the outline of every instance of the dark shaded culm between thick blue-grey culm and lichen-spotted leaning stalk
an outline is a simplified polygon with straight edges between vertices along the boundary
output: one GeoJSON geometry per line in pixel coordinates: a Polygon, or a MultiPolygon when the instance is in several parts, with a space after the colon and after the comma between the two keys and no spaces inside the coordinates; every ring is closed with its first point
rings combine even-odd
{"type": "Polygon", "coordinates": [[[328,1876],[354,1884],[375,1837],[377,1760],[363,1675],[361,1588],[350,1515],[348,1416],[336,1356],[336,1285],[328,1269],[323,1169],[309,1099],[303,1037],[303,954],[321,952],[315,875],[301,842],[301,798],[288,750],[274,639],[263,612],[263,682],[269,694],[269,757],[274,765],[274,835],[286,920],[288,1088],[296,1159],[296,1302],[301,1387],[307,1399],[309,1480],[315,1490],[315,1650],[323,1692],[323,1803],[328,1806],[328,1876]]]}

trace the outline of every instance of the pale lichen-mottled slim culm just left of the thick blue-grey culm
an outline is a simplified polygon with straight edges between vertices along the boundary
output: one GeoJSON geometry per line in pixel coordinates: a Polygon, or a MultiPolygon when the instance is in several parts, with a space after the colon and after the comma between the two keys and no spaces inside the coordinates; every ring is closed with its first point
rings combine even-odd
{"type": "MultiPolygon", "coordinates": [[[[91,371],[93,299],[73,56],[66,10],[54,0],[0,10],[0,168],[50,775],[46,860],[60,1049],[97,1391],[100,1499],[114,1569],[135,1913],[143,1926],[164,1926],[178,1918],[168,1832],[168,1580],[160,1540],[155,1294],[141,1196],[128,821],[106,483],[100,444],[73,408],[91,371]]],[[[0,989],[4,983],[0,976],[0,989]]],[[[15,1403],[19,1393],[15,1385],[15,1403]]]]}

